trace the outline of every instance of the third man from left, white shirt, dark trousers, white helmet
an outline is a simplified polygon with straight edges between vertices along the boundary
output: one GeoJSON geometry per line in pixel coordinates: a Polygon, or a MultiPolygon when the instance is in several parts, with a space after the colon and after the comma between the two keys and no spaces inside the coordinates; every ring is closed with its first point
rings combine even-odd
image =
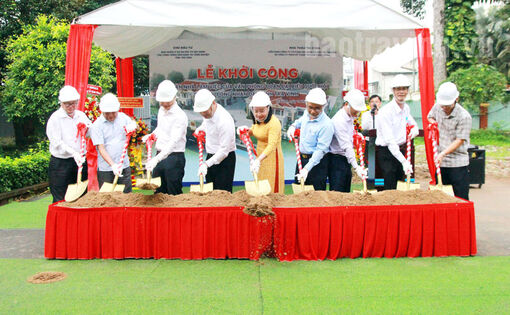
{"type": "MultiPolygon", "coordinates": [[[[186,158],[186,129],[188,117],[176,100],[177,88],[170,80],[158,85],[156,101],[159,102],[158,126],[152,132],[156,136],[157,155],[145,166],[154,171],[152,177],[161,177],[161,187],[156,192],[169,195],[182,194],[182,178],[186,158]]],[[[147,141],[150,135],[142,138],[147,141]]]]}

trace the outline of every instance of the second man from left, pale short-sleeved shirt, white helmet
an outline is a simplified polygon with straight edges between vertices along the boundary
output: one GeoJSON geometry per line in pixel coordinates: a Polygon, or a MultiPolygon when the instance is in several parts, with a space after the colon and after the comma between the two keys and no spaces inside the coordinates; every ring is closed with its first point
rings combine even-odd
{"type": "Polygon", "coordinates": [[[120,158],[126,145],[126,134],[136,130],[136,122],[128,115],[119,113],[119,100],[112,93],[106,93],[101,98],[99,109],[103,114],[90,128],[92,143],[99,152],[97,159],[99,187],[105,182],[113,183],[114,177],[118,176],[117,183],[125,185],[124,193],[129,193],[132,189],[129,156],[126,154],[123,161],[120,158]]]}

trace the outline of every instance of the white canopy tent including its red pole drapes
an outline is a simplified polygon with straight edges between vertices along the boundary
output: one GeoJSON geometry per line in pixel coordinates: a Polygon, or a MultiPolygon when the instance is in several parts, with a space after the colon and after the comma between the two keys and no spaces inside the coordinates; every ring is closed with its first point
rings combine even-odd
{"type": "MultiPolygon", "coordinates": [[[[434,103],[429,30],[379,1],[122,0],[75,19],[67,45],[66,84],[75,86],[84,99],[92,42],[119,58],[129,58],[149,54],[190,32],[218,39],[279,39],[296,34],[303,38],[304,34],[327,41],[339,54],[369,60],[416,37],[422,112],[428,112],[434,103]]],[[[119,96],[132,96],[128,95],[133,90],[132,76],[131,60],[117,59],[119,96]],[[124,61],[126,70],[122,70],[124,61]]],[[[83,109],[83,101],[79,108],[83,109]]],[[[427,137],[425,143],[433,177],[432,147],[427,137]]],[[[89,189],[91,183],[89,180],[89,189]]]]}

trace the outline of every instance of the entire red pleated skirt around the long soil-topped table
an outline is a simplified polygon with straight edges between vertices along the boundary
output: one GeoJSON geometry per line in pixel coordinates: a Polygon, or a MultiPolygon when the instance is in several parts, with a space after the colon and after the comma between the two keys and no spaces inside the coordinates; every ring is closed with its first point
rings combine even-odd
{"type": "Polygon", "coordinates": [[[273,208],[97,208],[50,205],[45,257],[242,258],[429,257],[476,254],[473,203],[273,208]]]}

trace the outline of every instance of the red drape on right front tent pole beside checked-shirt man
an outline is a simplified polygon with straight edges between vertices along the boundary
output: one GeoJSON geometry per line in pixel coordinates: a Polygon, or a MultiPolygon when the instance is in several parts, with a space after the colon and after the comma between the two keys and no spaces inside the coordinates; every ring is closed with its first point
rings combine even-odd
{"type": "Polygon", "coordinates": [[[430,31],[428,28],[417,28],[416,43],[418,45],[418,77],[420,80],[421,97],[421,120],[425,131],[425,151],[427,152],[427,163],[430,176],[435,184],[435,165],[432,152],[432,142],[428,138],[427,126],[429,125],[427,115],[434,106],[434,68],[432,64],[432,45],[430,42],[430,31]]]}

